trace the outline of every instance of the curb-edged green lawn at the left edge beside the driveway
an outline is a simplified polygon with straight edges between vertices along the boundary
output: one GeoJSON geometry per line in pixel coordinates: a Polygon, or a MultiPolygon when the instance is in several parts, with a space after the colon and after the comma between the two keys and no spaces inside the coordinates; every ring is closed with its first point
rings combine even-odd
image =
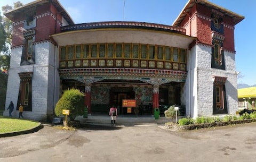
{"type": "Polygon", "coordinates": [[[30,130],[39,124],[36,121],[0,116],[0,134],[30,130]]]}

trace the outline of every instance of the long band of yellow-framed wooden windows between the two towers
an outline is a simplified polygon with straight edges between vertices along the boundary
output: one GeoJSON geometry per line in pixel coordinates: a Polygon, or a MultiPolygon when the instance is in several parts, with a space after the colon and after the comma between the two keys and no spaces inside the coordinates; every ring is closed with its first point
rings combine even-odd
{"type": "Polygon", "coordinates": [[[61,69],[76,67],[103,67],[102,61],[101,63],[99,62],[100,59],[113,60],[113,65],[107,61],[105,62],[105,66],[109,67],[115,67],[117,65],[116,63],[118,63],[117,67],[156,68],[181,71],[186,71],[187,63],[187,49],[161,45],[129,44],[124,42],[63,46],[60,47],[59,53],[61,69]],[[104,57],[103,55],[99,57],[101,53],[99,51],[101,45],[105,47],[104,57]],[[109,48],[111,50],[109,50],[109,48]],[[118,48],[119,50],[117,51],[118,48]],[[151,50],[149,50],[149,48],[151,48],[151,50]],[[177,59],[175,59],[175,61],[173,60],[174,50],[177,51],[177,59]],[[169,52],[168,56],[166,53],[167,51],[169,52]],[[109,52],[111,53],[110,55],[108,54],[109,52]],[[70,53],[72,53],[72,55],[70,53]],[[117,53],[119,53],[119,57],[117,57],[117,53]],[[134,57],[134,53],[136,54],[136,57],[134,57]],[[166,58],[169,59],[167,60],[166,58]],[[124,62],[128,59],[130,60],[130,65],[127,61],[126,63],[124,62]],[[138,63],[133,62],[133,60],[138,60],[138,63]],[[122,61],[122,64],[119,64],[121,63],[120,61],[122,61]],[[155,62],[155,67],[153,66],[152,61],[155,62]],[[161,61],[161,63],[158,63],[159,61],[161,61]],[[168,67],[165,68],[165,66],[168,67]]]}

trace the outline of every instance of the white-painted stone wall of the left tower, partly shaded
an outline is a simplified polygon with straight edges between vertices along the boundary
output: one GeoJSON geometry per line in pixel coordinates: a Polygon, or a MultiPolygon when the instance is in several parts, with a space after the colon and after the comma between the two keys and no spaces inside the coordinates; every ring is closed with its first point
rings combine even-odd
{"type": "MultiPolygon", "coordinates": [[[[31,81],[32,111],[23,112],[23,116],[31,120],[45,121],[47,115],[51,114],[53,116],[56,100],[59,99],[59,75],[54,63],[56,60],[58,61],[56,53],[58,49],[55,49],[51,42],[44,41],[36,44],[35,51],[36,64],[20,66],[22,47],[12,49],[5,109],[7,109],[10,101],[17,105],[20,86],[18,73],[33,72],[31,81]],[[57,89],[57,92],[55,92],[55,89],[57,89]]],[[[18,117],[18,114],[18,111],[14,110],[13,116],[18,117]]],[[[9,115],[7,110],[4,115],[9,115]]]]}

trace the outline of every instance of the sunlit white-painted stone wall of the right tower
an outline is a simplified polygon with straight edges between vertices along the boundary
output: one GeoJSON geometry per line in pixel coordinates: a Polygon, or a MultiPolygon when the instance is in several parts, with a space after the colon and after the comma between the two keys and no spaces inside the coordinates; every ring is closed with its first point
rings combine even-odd
{"type": "MultiPolygon", "coordinates": [[[[237,78],[235,71],[235,56],[225,51],[226,70],[211,69],[211,47],[197,46],[197,108],[198,116],[212,116],[213,114],[213,76],[226,77],[226,99],[228,113],[235,114],[238,108],[237,78]]],[[[223,114],[225,115],[225,114],[223,114]]]]}

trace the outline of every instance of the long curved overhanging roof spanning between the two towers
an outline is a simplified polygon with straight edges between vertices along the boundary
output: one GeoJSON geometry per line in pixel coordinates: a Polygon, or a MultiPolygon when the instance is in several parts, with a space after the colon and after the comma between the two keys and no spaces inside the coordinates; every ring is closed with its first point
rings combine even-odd
{"type": "Polygon", "coordinates": [[[51,35],[59,46],[106,42],[157,44],[188,48],[196,37],[185,35],[185,29],[146,22],[109,21],[69,25],[51,35]]]}

